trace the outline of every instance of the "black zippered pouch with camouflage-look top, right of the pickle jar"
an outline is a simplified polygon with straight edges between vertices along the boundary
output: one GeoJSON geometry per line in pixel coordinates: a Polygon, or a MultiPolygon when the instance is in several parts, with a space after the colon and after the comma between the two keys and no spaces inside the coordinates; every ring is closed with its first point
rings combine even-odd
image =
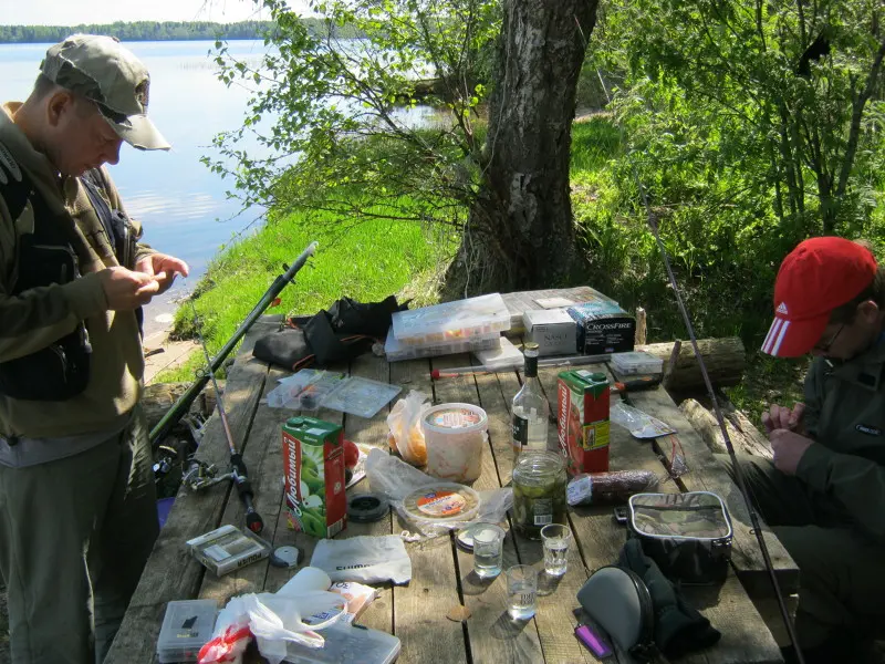
{"type": "Polygon", "coordinates": [[[696,585],[725,581],[731,519],[716,494],[637,494],[629,499],[627,530],[668,579],[696,585]]]}

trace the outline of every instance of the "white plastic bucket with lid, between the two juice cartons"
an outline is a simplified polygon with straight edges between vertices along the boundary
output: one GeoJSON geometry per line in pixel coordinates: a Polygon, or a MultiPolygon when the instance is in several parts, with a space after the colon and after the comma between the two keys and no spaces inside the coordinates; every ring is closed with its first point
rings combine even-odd
{"type": "Polygon", "coordinates": [[[482,471],[489,418],[472,404],[440,404],[421,417],[427,474],[449,481],[473,481],[482,471]]]}

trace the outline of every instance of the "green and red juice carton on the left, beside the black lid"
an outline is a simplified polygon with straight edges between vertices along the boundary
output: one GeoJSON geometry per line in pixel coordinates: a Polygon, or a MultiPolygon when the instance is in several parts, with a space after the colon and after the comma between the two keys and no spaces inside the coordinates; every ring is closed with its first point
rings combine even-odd
{"type": "Polygon", "coordinates": [[[347,527],[344,429],[314,417],[292,417],[282,428],[289,527],[330,538],[347,527]]]}

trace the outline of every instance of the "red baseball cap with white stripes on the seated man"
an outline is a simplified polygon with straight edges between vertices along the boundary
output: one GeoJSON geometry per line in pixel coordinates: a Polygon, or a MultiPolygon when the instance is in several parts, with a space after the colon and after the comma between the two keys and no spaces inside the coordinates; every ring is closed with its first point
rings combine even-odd
{"type": "Polygon", "coordinates": [[[876,276],[868,249],[844,238],[811,238],[783,259],[774,281],[774,322],[762,352],[798,357],[821,339],[831,312],[868,288],[876,276]]]}

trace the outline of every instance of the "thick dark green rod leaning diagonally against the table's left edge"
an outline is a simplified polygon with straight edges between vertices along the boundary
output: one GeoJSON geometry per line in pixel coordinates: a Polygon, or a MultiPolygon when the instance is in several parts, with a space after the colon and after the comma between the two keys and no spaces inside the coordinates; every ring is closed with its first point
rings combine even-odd
{"type": "MultiPolygon", "coordinates": [[[[169,435],[178,421],[184,417],[187,412],[190,409],[190,404],[194,403],[194,400],[197,398],[202,388],[206,387],[207,383],[209,382],[209,375],[214,374],[211,372],[216,372],[221,369],[221,364],[225,362],[225,359],[230,354],[230,352],[236,347],[236,345],[240,342],[240,340],[246,335],[249,329],[254,324],[254,322],[261,317],[262,313],[271,305],[271,303],[277,299],[277,295],[282,292],[282,290],[295,278],[295,273],[304,267],[304,263],[308,262],[308,259],[313,256],[316,251],[317,243],[311,242],[304,251],[301,252],[295,261],[290,266],[283,266],[285,272],[279,274],[277,279],[273,280],[270,288],[261,295],[261,299],[258,303],[252,308],[252,311],[249,312],[249,315],[246,317],[243,322],[233,333],[228,342],[218,351],[218,354],[215,356],[214,360],[209,361],[209,373],[202,372],[202,375],[198,376],[194,384],[188,387],[187,392],[185,392],[181,396],[178,397],[178,401],[173,404],[171,408],[169,408],[166,414],[160,418],[160,421],[150,429],[150,445],[154,449],[169,435]]],[[[218,394],[218,390],[216,390],[218,394]]]]}

